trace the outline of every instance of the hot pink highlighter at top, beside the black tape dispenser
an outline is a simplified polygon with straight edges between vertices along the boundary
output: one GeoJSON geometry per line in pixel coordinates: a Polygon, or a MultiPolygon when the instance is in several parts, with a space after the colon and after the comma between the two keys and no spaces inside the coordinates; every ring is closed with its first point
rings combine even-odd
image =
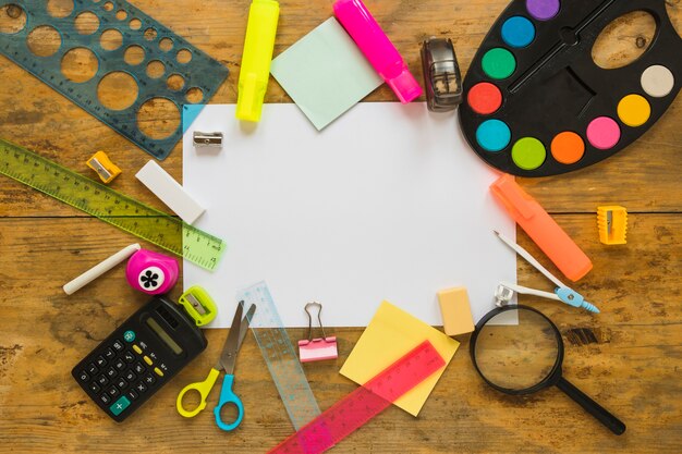
{"type": "Polygon", "coordinates": [[[422,95],[395,46],[361,0],[337,0],[333,13],[360,50],[404,105],[422,95]]]}

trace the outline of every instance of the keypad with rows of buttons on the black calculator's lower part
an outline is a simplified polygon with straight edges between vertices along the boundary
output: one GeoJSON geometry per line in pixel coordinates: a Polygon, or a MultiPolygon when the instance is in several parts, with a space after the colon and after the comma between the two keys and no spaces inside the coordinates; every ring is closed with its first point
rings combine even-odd
{"type": "Polygon", "coordinates": [[[119,416],[131,403],[142,394],[158,386],[163,372],[168,371],[166,364],[155,364],[157,355],[136,343],[129,344],[132,349],[119,340],[105,345],[95,360],[87,363],[77,375],[83,388],[95,394],[97,401],[103,404],[114,416],[119,416]],[[160,368],[159,368],[160,367],[160,368]]]}

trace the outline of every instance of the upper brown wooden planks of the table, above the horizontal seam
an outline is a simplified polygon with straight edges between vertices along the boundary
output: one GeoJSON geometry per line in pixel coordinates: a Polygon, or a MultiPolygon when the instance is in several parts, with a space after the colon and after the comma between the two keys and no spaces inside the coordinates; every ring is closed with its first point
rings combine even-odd
{"type": "MultiPolygon", "coordinates": [[[[137,1],[135,4],[144,11],[154,12],[161,23],[226,64],[231,71],[230,76],[211,102],[236,101],[247,1],[178,0],[172,8],[159,0],[137,1]]],[[[331,15],[330,4],[331,1],[322,0],[281,2],[275,54],[331,15]]],[[[465,72],[485,34],[506,4],[501,0],[367,1],[417,79],[422,79],[419,42],[424,38],[431,35],[452,38],[465,72]]],[[[682,4],[678,1],[668,4],[673,22],[682,22],[682,4]]],[[[640,33],[626,29],[628,34],[612,38],[619,42],[619,49],[626,48],[623,41],[637,48],[638,38],[650,35],[648,29],[640,33]]],[[[621,57],[617,53],[613,59],[621,57]]],[[[0,137],[36,149],[84,173],[90,172],[84,161],[98,149],[109,152],[126,172],[124,176],[132,176],[149,159],[125,138],[4,57],[0,57],[0,74],[3,81],[9,82],[0,93],[0,137]]],[[[394,100],[394,96],[383,85],[366,100],[394,100]]],[[[266,101],[291,102],[291,99],[270,77],[266,101]]],[[[569,177],[526,179],[524,185],[550,212],[595,212],[597,205],[605,203],[620,203],[634,212],[680,212],[681,110],[682,101],[677,99],[668,114],[637,143],[611,159],[573,172],[569,177]]],[[[163,162],[163,167],[176,177],[182,173],[180,150],[179,144],[163,162]]],[[[151,194],[132,177],[119,179],[113,187],[139,195],[158,206],[151,194]]],[[[0,181],[0,216],[17,211],[25,216],[73,214],[70,208],[24,192],[7,179],[0,181]]]]}

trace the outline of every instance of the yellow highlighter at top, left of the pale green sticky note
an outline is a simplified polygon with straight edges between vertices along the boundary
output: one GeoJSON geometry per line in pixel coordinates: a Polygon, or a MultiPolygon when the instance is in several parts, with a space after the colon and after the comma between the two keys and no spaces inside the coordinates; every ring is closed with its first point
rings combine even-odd
{"type": "Polygon", "coordinates": [[[239,120],[260,120],[263,99],[270,77],[270,61],[275,48],[279,3],[275,0],[253,0],[248,11],[246,39],[240,71],[236,114],[239,120]]]}

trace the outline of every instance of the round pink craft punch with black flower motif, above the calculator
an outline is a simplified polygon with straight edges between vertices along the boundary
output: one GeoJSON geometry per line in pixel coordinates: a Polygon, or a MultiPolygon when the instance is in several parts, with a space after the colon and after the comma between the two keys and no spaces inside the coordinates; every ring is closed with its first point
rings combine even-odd
{"type": "Polygon", "coordinates": [[[125,267],[127,283],[149,295],[168,293],[178,282],[179,274],[178,260],[148,249],[133,254],[125,267]]]}

